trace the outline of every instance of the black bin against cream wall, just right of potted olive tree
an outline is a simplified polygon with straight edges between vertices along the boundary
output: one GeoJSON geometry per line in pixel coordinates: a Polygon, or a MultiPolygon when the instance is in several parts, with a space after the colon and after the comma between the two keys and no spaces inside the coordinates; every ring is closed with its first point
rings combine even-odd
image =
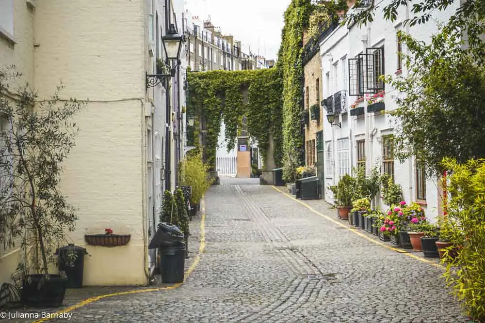
{"type": "Polygon", "coordinates": [[[86,248],[69,244],[57,249],[59,257],[59,271],[64,271],[67,276],[67,288],[81,288],[82,275],[84,273],[84,255],[87,255],[86,248]],[[71,255],[75,254],[76,258],[71,255]]]}

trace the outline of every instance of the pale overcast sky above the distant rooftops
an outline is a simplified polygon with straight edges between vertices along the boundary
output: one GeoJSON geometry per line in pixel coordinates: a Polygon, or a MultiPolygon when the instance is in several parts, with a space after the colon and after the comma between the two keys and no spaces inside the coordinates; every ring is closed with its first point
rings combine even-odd
{"type": "Polygon", "coordinates": [[[242,42],[242,51],[275,60],[281,43],[283,14],[291,0],[185,0],[185,7],[199,19],[220,27],[242,42]]]}

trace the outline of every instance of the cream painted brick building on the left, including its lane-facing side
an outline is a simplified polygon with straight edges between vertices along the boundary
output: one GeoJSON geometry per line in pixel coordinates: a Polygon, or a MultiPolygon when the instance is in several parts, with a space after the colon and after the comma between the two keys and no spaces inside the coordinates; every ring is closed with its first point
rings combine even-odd
{"type": "MultiPolygon", "coordinates": [[[[183,3],[171,2],[170,20],[181,32],[183,3]]],[[[9,29],[3,22],[10,20],[0,19],[0,63],[16,64],[39,99],[61,79],[61,99],[89,99],[75,120],[80,132],[62,182],[63,194],[79,208],[68,240],[91,255],[84,262],[84,285],[145,285],[155,268],[156,254],[147,245],[162,192],[175,188],[175,167],[184,152],[186,51],[167,89],[146,88],[146,73],[156,74],[157,58],[164,58],[167,0],[0,3],[12,5],[0,12],[13,22],[9,29]],[[130,234],[129,243],[85,242],[85,234],[103,234],[105,228],[130,234]]],[[[9,281],[18,255],[1,253],[0,284],[9,281]]]]}

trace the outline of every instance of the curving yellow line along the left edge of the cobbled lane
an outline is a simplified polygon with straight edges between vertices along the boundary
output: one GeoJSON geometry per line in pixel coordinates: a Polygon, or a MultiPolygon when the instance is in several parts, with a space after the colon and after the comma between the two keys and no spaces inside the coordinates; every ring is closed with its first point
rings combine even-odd
{"type": "MultiPolygon", "coordinates": [[[[206,236],[205,236],[206,204],[205,204],[204,199],[202,199],[200,201],[200,208],[201,208],[202,215],[201,215],[201,220],[200,220],[199,250],[198,250],[197,255],[195,256],[195,259],[192,262],[191,266],[185,272],[184,280],[187,279],[187,277],[189,277],[189,275],[194,271],[195,267],[197,266],[197,264],[200,261],[200,255],[202,254],[202,252],[204,251],[204,248],[206,246],[206,236]]],[[[146,288],[146,289],[142,289],[142,290],[134,290],[134,291],[126,291],[126,292],[114,292],[114,293],[111,293],[111,294],[98,295],[98,296],[87,298],[87,299],[85,299],[85,300],[83,300],[83,301],[81,301],[77,304],[74,304],[74,305],[72,305],[68,308],[64,308],[62,310],[59,310],[55,314],[62,314],[62,313],[71,312],[71,311],[73,311],[77,308],[81,308],[83,306],[88,305],[89,303],[93,303],[93,302],[96,302],[100,299],[107,298],[107,297],[129,295],[129,294],[138,294],[138,293],[142,293],[142,292],[158,292],[158,291],[173,290],[173,289],[180,287],[182,284],[183,283],[177,283],[177,284],[174,284],[173,286],[167,286],[167,287],[146,288]]],[[[47,321],[54,319],[54,318],[55,317],[43,318],[43,319],[40,319],[40,320],[37,320],[37,321],[33,321],[32,323],[47,322],[47,321]]]]}

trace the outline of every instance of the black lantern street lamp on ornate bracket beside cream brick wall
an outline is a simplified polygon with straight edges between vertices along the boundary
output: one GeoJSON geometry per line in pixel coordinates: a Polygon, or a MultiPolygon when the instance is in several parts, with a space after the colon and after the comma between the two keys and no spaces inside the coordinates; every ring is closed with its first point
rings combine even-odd
{"type": "Polygon", "coordinates": [[[170,74],[148,74],[146,75],[146,90],[154,87],[170,77],[175,77],[177,66],[180,65],[180,51],[185,36],[179,35],[174,24],[170,24],[167,34],[162,37],[163,51],[165,52],[165,65],[170,69],[170,74]]]}

